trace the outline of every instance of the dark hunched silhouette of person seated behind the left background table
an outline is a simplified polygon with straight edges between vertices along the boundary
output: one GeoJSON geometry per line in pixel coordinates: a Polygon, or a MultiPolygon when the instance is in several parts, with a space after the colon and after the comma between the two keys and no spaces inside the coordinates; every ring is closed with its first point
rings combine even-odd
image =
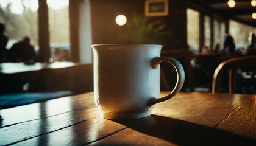
{"type": "Polygon", "coordinates": [[[35,56],[34,47],[30,45],[30,38],[24,37],[10,49],[10,61],[30,62],[35,56]]]}

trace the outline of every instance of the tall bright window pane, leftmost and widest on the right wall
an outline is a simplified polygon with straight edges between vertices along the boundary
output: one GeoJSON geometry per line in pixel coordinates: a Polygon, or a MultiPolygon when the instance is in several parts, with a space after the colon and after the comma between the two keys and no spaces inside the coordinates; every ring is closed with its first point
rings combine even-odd
{"type": "Polygon", "coordinates": [[[199,52],[199,12],[187,9],[187,43],[193,52],[199,52]]]}

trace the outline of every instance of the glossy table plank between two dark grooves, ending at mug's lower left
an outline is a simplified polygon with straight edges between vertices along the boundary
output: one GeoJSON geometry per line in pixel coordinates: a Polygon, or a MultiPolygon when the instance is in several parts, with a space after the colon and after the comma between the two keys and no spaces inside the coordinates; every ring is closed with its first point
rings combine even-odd
{"type": "Polygon", "coordinates": [[[72,111],[47,118],[19,123],[10,127],[0,128],[0,145],[8,145],[24,139],[31,139],[63,128],[72,127],[77,123],[100,117],[98,108],[72,111]]]}

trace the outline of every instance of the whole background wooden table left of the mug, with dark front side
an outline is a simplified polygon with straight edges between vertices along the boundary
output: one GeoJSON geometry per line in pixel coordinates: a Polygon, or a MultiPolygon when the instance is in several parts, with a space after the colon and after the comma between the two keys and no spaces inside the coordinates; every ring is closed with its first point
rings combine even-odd
{"type": "Polygon", "coordinates": [[[74,94],[93,91],[93,64],[74,62],[0,63],[0,95],[22,91],[29,83],[29,92],[72,91],[74,94]]]}

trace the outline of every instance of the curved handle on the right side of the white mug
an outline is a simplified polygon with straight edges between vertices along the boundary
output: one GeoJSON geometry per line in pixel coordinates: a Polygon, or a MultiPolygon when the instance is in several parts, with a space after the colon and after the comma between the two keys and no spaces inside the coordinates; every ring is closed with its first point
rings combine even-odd
{"type": "Polygon", "coordinates": [[[174,58],[171,57],[155,57],[152,61],[151,61],[151,65],[153,69],[157,69],[158,65],[160,63],[162,63],[163,61],[166,61],[168,63],[171,63],[172,66],[174,66],[174,68],[176,69],[176,73],[177,73],[177,82],[176,85],[174,87],[174,89],[172,90],[172,92],[170,94],[168,94],[168,96],[165,97],[161,97],[158,99],[150,99],[148,102],[148,106],[154,105],[155,103],[159,103],[159,102],[163,102],[165,100],[171,99],[171,97],[174,97],[182,88],[184,81],[185,81],[185,72],[183,69],[182,64],[180,64],[180,62],[174,58]]]}

